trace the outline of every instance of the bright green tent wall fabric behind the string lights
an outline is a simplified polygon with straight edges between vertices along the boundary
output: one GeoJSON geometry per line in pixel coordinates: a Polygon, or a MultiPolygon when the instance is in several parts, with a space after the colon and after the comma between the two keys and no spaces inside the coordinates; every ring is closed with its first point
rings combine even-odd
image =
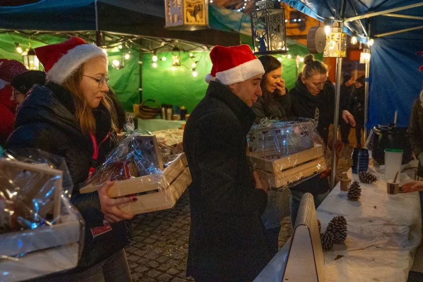
{"type": "MultiPolygon", "coordinates": [[[[15,42],[20,43],[25,50],[28,48],[29,38],[17,33],[0,34],[0,58],[18,60],[22,62],[22,56],[15,50],[15,42]]],[[[54,35],[39,35],[30,39],[31,47],[35,48],[45,44],[53,44],[63,41],[62,37],[54,35]]],[[[251,36],[242,34],[242,42],[251,45],[251,36]]],[[[292,59],[282,58],[283,78],[286,87],[294,87],[296,79],[295,56],[308,54],[305,46],[288,40],[289,54],[292,59]]],[[[122,60],[122,56],[128,50],[108,50],[109,63],[113,60],[123,61],[122,69],[115,69],[109,64],[109,86],[115,91],[118,99],[127,111],[132,111],[132,104],[139,102],[139,53],[137,50],[130,50],[130,59],[122,60]]],[[[194,59],[189,53],[181,52],[182,66],[171,66],[171,53],[159,53],[157,67],[152,66],[152,55],[143,54],[143,100],[153,99],[159,103],[172,104],[174,106],[185,106],[191,112],[198,102],[204,97],[207,84],[204,78],[212,69],[209,52],[194,52],[194,59]],[[166,57],[166,61],[161,61],[166,57]],[[196,66],[197,77],[192,75],[192,63],[199,62],[196,66]]],[[[279,57],[279,56],[276,56],[279,57]]],[[[322,56],[318,56],[321,59],[322,56]]],[[[302,64],[300,64],[300,69],[302,64]]],[[[42,67],[41,67],[42,69],[42,67]]],[[[301,71],[301,70],[299,70],[301,71]]]]}

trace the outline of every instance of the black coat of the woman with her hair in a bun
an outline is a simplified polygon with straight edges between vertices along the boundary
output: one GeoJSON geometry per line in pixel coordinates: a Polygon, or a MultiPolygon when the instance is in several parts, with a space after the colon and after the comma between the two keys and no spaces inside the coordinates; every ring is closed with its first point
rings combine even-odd
{"type": "MultiPolygon", "coordinates": [[[[328,144],[329,125],[333,123],[335,110],[335,89],[330,81],[326,81],[323,90],[313,96],[301,81],[301,77],[295,82],[295,87],[289,92],[292,100],[291,114],[294,117],[315,119],[316,108],[319,109],[317,131],[322,136],[325,144],[328,144]]],[[[346,108],[340,105],[342,113],[346,108]]]]}

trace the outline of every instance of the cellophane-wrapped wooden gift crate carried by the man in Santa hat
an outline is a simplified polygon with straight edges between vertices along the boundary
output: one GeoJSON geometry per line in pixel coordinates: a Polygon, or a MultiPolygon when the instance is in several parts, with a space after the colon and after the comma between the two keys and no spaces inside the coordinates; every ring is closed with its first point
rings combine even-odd
{"type": "Polygon", "coordinates": [[[316,127],[311,119],[262,119],[247,134],[250,166],[272,188],[289,188],[321,173],[325,145],[316,127]]]}

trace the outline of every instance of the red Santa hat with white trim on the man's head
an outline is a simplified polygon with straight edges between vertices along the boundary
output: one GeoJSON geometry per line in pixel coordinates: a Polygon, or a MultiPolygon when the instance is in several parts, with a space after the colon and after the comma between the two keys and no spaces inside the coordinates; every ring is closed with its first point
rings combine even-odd
{"type": "Polygon", "coordinates": [[[224,85],[231,85],[264,74],[262,63],[254,56],[250,46],[215,46],[210,52],[213,66],[206,75],[206,82],[218,79],[224,85]]]}

